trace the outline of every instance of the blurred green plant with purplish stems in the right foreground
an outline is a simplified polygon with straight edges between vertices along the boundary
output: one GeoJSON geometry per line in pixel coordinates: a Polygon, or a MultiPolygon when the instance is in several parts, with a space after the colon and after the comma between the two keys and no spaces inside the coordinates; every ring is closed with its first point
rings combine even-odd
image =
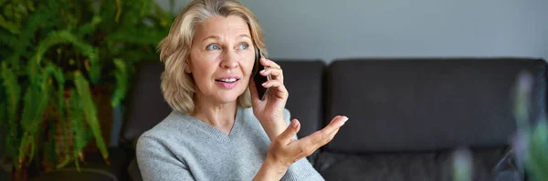
{"type": "MultiPolygon", "coordinates": [[[[515,82],[513,115],[517,132],[511,137],[511,151],[493,169],[495,180],[548,180],[548,119],[530,116],[533,78],[522,71],[515,82]]],[[[458,149],[453,157],[452,178],[472,180],[472,156],[468,149],[458,149]]]]}

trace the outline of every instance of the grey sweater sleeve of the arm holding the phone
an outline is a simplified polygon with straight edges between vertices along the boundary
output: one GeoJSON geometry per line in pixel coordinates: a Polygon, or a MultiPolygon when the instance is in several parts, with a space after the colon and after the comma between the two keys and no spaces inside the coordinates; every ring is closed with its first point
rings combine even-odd
{"type": "MultiPolygon", "coordinates": [[[[285,109],[283,112],[283,117],[288,123],[288,126],[290,126],[290,111],[285,109]]],[[[293,139],[298,139],[297,135],[293,137],[293,139]]],[[[311,180],[311,181],[323,181],[323,177],[321,177],[320,173],[314,169],[314,167],[311,165],[311,162],[306,159],[306,157],[301,158],[297,162],[293,163],[293,165],[288,168],[288,171],[284,176],[281,177],[282,181],[297,181],[297,180],[311,180]]]]}

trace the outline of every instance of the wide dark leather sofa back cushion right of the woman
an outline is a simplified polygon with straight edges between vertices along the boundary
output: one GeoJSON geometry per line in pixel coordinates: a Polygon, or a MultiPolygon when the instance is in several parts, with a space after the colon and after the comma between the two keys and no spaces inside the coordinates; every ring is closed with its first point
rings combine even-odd
{"type": "Polygon", "coordinates": [[[330,65],[328,107],[350,118],[325,148],[334,152],[421,151],[508,145],[512,87],[534,76],[532,114],[546,106],[546,63],[519,58],[352,59],[330,65]]]}

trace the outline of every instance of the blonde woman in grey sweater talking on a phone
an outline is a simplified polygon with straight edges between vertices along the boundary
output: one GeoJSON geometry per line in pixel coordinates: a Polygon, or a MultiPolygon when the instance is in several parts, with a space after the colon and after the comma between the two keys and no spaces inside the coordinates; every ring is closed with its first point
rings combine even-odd
{"type": "Polygon", "coordinates": [[[255,48],[268,55],[255,15],[236,0],[187,5],[159,45],[163,96],[174,111],[143,133],[137,161],[144,180],[323,180],[305,158],[347,120],[296,139],[300,123],[284,109],[279,65],[261,58],[270,80],[259,99],[250,78],[255,48]],[[257,45],[257,47],[255,47],[257,45]],[[289,125],[288,125],[289,124],[289,125]]]}

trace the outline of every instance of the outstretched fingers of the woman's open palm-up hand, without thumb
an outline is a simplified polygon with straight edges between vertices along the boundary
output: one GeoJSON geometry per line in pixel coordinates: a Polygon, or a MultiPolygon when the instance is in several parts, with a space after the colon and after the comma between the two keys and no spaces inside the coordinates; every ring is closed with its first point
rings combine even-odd
{"type": "Polygon", "coordinates": [[[328,126],[325,126],[320,131],[316,131],[310,136],[303,137],[300,140],[311,146],[324,146],[332,140],[339,131],[339,128],[344,125],[347,120],[348,117],[346,116],[335,116],[328,126]]]}

